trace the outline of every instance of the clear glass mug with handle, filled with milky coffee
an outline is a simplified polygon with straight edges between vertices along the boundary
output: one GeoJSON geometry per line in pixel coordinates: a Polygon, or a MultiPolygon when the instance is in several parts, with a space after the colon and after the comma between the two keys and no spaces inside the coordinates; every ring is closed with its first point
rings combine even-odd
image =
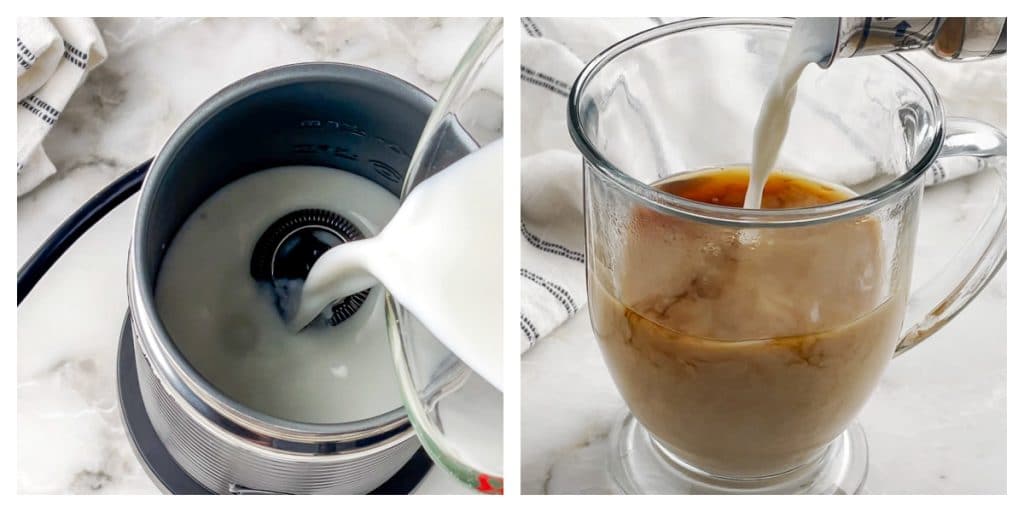
{"type": "Polygon", "coordinates": [[[657,27],[595,57],[569,95],[591,322],[631,412],[611,436],[623,492],[860,490],[867,446],[853,420],[888,361],[1006,260],[1006,136],[945,118],[899,55],[800,80],[777,168],[850,199],[743,210],[663,191],[670,176],[750,162],[791,27],[657,27]],[[943,165],[994,171],[995,202],[942,275],[910,293],[922,191],[943,165]]]}

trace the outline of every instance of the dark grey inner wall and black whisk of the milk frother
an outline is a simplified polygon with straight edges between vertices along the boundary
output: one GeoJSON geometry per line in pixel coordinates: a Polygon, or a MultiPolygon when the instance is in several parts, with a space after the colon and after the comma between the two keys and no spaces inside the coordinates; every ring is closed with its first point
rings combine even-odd
{"type": "MultiPolygon", "coordinates": [[[[136,220],[141,238],[135,246],[140,262],[136,270],[145,295],[153,296],[167,247],[188,216],[218,189],[247,174],[289,165],[330,167],[400,196],[410,159],[434,106],[419,89],[351,66],[295,65],[244,82],[201,105],[154,162],[147,178],[154,183],[143,190],[136,220]],[[186,133],[186,138],[176,140],[178,133],[186,133]]],[[[449,161],[477,145],[458,123],[455,128],[446,126],[446,143],[435,148],[449,161]]],[[[310,213],[295,212],[296,218],[279,222],[294,223],[310,213]]],[[[355,236],[347,219],[337,219],[333,212],[314,216],[304,217],[309,226],[295,233],[272,233],[266,244],[276,246],[276,260],[273,254],[254,251],[253,276],[305,278],[306,267],[315,260],[313,251],[355,236]]],[[[268,236],[274,227],[268,226],[268,236]]],[[[329,322],[337,325],[354,313],[367,298],[364,294],[336,303],[329,322]]]]}

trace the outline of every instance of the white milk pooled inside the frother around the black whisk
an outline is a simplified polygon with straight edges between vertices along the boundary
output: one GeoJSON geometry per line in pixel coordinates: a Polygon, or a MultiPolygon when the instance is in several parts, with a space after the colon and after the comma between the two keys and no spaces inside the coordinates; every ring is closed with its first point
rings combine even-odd
{"type": "Polygon", "coordinates": [[[282,167],[229,183],[203,203],[167,251],[157,309],[184,357],[214,387],[256,411],[311,423],[340,423],[401,406],[376,287],[334,328],[294,333],[270,287],[249,273],[253,247],[296,210],[332,210],[368,237],[398,200],[376,183],[321,167],[282,167]]]}

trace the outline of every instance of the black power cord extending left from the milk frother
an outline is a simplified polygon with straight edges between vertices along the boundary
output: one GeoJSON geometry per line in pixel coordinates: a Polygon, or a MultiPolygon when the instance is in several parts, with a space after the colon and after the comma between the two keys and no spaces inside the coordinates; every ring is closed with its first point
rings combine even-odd
{"type": "Polygon", "coordinates": [[[150,170],[153,159],[128,171],[116,181],[99,190],[86,204],[65,220],[35,254],[17,270],[17,304],[29,295],[43,274],[56,263],[60,256],[88,231],[93,224],[111,212],[142,186],[142,178],[150,170]]]}

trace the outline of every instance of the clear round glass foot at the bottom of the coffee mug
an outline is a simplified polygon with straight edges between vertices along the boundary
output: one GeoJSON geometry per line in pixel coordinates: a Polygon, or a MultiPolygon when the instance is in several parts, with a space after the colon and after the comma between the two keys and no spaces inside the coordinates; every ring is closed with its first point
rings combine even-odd
{"type": "Polygon", "coordinates": [[[686,463],[629,413],[609,442],[611,481],[630,495],[855,495],[867,477],[867,439],[857,423],[810,463],[757,478],[723,477],[686,463]]]}

